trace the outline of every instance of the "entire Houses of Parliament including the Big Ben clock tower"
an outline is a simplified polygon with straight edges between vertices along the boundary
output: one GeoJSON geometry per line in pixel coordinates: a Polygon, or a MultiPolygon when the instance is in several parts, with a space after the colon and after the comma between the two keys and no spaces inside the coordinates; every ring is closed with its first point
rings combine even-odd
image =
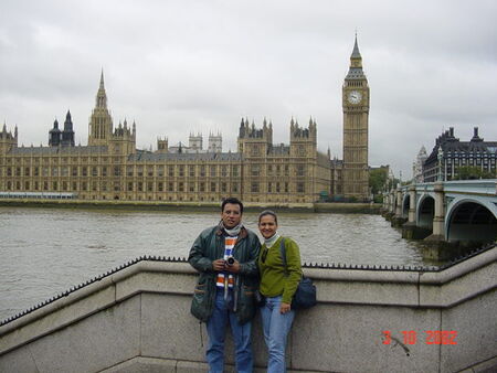
{"type": "Polygon", "coordinates": [[[369,86],[356,42],[342,85],[343,159],[317,149],[317,124],[289,122],[289,145],[273,143],[273,124],[242,119],[237,151],[223,152],[220,135],[203,149],[201,135],[188,146],[159,138],[156,151],[136,149],[136,124],[114,126],[104,75],[88,124],[87,146],[75,146],[71,113],[55,120],[49,145],[19,147],[18,127],[0,131],[0,193],[64,194],[80,200],[244,202],[287,205],[332,196],[364,201],[368,188],[369,86]]]}

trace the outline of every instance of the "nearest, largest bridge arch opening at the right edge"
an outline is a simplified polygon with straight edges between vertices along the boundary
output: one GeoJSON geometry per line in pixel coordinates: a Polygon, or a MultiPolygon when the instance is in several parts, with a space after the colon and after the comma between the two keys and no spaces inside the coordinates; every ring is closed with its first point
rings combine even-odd
{"type": "Polygon", "coordinates": [[[451,204],[445,215],[447,241],[482,241],[497,238],[497,207],[488,201],[461,199],[451,204]]]}

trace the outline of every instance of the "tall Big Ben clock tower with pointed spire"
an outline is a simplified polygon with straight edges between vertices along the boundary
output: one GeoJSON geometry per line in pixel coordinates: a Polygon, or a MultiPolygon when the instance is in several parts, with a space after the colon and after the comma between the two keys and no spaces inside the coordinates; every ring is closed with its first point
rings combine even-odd
{"type": "Polygon", "coordinates": [[[368,117],[369,86],[362,72],[362,57],[356,43],[342,86],[343,107],[343,194],[359,201],[369,198],[368,117]]]}

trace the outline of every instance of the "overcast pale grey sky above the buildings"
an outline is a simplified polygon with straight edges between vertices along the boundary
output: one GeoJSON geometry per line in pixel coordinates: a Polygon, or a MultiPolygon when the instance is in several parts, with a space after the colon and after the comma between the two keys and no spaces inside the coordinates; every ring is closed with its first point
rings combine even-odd
{"type": "Polygon", "coordinates": [[[342,158],[341,85],[356,29],[371,89],[369,162],[411,177],[425,146],[453,126],[497,140],[497,1],[1,0],[0,118],[19,142],[47,143],[71,109],[87,143],[101,70],[114,125],[137,147],[222,132],[242,117],[316,118],[318,147],[342,158]]]}

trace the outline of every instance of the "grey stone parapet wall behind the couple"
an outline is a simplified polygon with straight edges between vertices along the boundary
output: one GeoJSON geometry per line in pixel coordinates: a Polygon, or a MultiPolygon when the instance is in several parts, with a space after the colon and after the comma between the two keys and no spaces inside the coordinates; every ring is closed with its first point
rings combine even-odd
{"type": "MultiPolygon", "coordinates": [[[[288,344],[295,372],[483,372],[497,366],[497,248],[441,271],[306,268],[318,305],[288,344]],[[429,344],[426,331],[456,331],[429,344]],[[384,331],[390,332],[390,343],[384,331]],[[403,331],[415,332],[404,343],[403,331]],[[413,342],[413,340],[411,340],[413,342]]],[[[195,273],[139,260],[0,327],[0,372],[205,372],[207,332],[189,312],[195,273]]],[[[257,371],[267,354],[258,317],[257,371]]],[[[233,349],[228,343],[229,369],[233,349]]]]}

